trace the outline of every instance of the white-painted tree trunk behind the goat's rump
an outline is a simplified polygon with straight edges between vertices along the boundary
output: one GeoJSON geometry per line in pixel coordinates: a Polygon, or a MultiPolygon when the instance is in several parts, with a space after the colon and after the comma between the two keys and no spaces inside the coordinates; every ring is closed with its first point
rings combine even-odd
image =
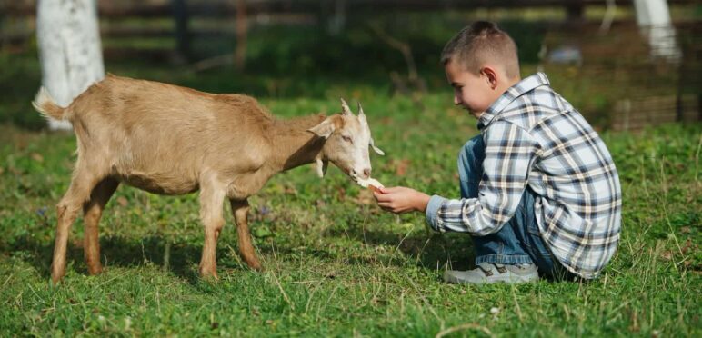
{"type": "MultiPolygon", "coordinates": [[[[95,0],[39,0],[36,35],[42,84],[57,104],[70,104],[105,77],[95,0]]],[[[49,120],[49,129],[71,124],[49,120]]]]}

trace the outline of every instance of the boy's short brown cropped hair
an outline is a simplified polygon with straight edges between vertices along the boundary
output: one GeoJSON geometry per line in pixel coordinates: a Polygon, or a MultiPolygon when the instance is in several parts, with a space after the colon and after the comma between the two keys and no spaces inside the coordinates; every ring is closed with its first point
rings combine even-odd
{"type": "Polygon", "coordinates": [[[495,23],[488,21],[477,21],[466,26],[446,43],[441,53],[441,64],[447,65],[450,61],[461,63],[466,71],[476,75],[487,62],[496,62],[505,66],[508,77],[519,76],[515,41],[495,23]]]}

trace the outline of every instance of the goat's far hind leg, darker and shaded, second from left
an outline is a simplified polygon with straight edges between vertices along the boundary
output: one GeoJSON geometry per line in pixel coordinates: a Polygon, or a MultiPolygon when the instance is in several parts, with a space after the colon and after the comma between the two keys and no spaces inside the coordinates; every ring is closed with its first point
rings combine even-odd
{"type": "Polygon", "coordinates": [[[90,201],[83,204],[83,222],[85,223],[84,248],[85,263],[88,273],[97,274],[103,270],[100,263],[100,242],[97,239],[97,224],[105,209],[105,204],[115,194],[119,182],[113,178],[105,178],[95,186],[90,194],[90,201]]]}

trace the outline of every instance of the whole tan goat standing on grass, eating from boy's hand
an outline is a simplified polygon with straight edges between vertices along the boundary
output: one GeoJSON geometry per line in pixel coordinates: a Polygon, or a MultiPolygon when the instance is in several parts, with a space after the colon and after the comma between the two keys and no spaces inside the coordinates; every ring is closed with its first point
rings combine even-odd
{"type": "Polygon", "coordinates": [[[67,107],[42,88],[33,102],[45,116],[70,121],[78,158],[68,191],[57,204],[51,277],[65,275],[66,243],[75,217],[85,217],[85,262],[100,273],[97,224],[117,185],[155,194],[200,191],[205,244],[199,272],[216,278],[216,241],[225,224],[227,198],[237,225],[239,250],[260,270],[247,224],[247,198],[276,173],[302,164],[327,162],[356,180],[370,176],[373,145],[366,115],[342,100],[342,114],[280,120],[255,99],[239,94],[207,94],[171,84],[107,75],[67,107]]]}

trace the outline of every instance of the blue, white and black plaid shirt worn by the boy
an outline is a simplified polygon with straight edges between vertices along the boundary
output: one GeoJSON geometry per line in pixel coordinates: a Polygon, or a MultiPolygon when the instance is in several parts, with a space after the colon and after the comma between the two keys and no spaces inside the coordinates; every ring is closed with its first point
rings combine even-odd
{"type": "Polygon", "coordinates": [[[480,116],[486,144],[479,197],[432,196],[427,222],[440,232],[496,233],[528,185],[541,237],[567,269],[595,278],[617,250],[621,188],[612,156],[581,114],[537,73],[480,116]]]}

